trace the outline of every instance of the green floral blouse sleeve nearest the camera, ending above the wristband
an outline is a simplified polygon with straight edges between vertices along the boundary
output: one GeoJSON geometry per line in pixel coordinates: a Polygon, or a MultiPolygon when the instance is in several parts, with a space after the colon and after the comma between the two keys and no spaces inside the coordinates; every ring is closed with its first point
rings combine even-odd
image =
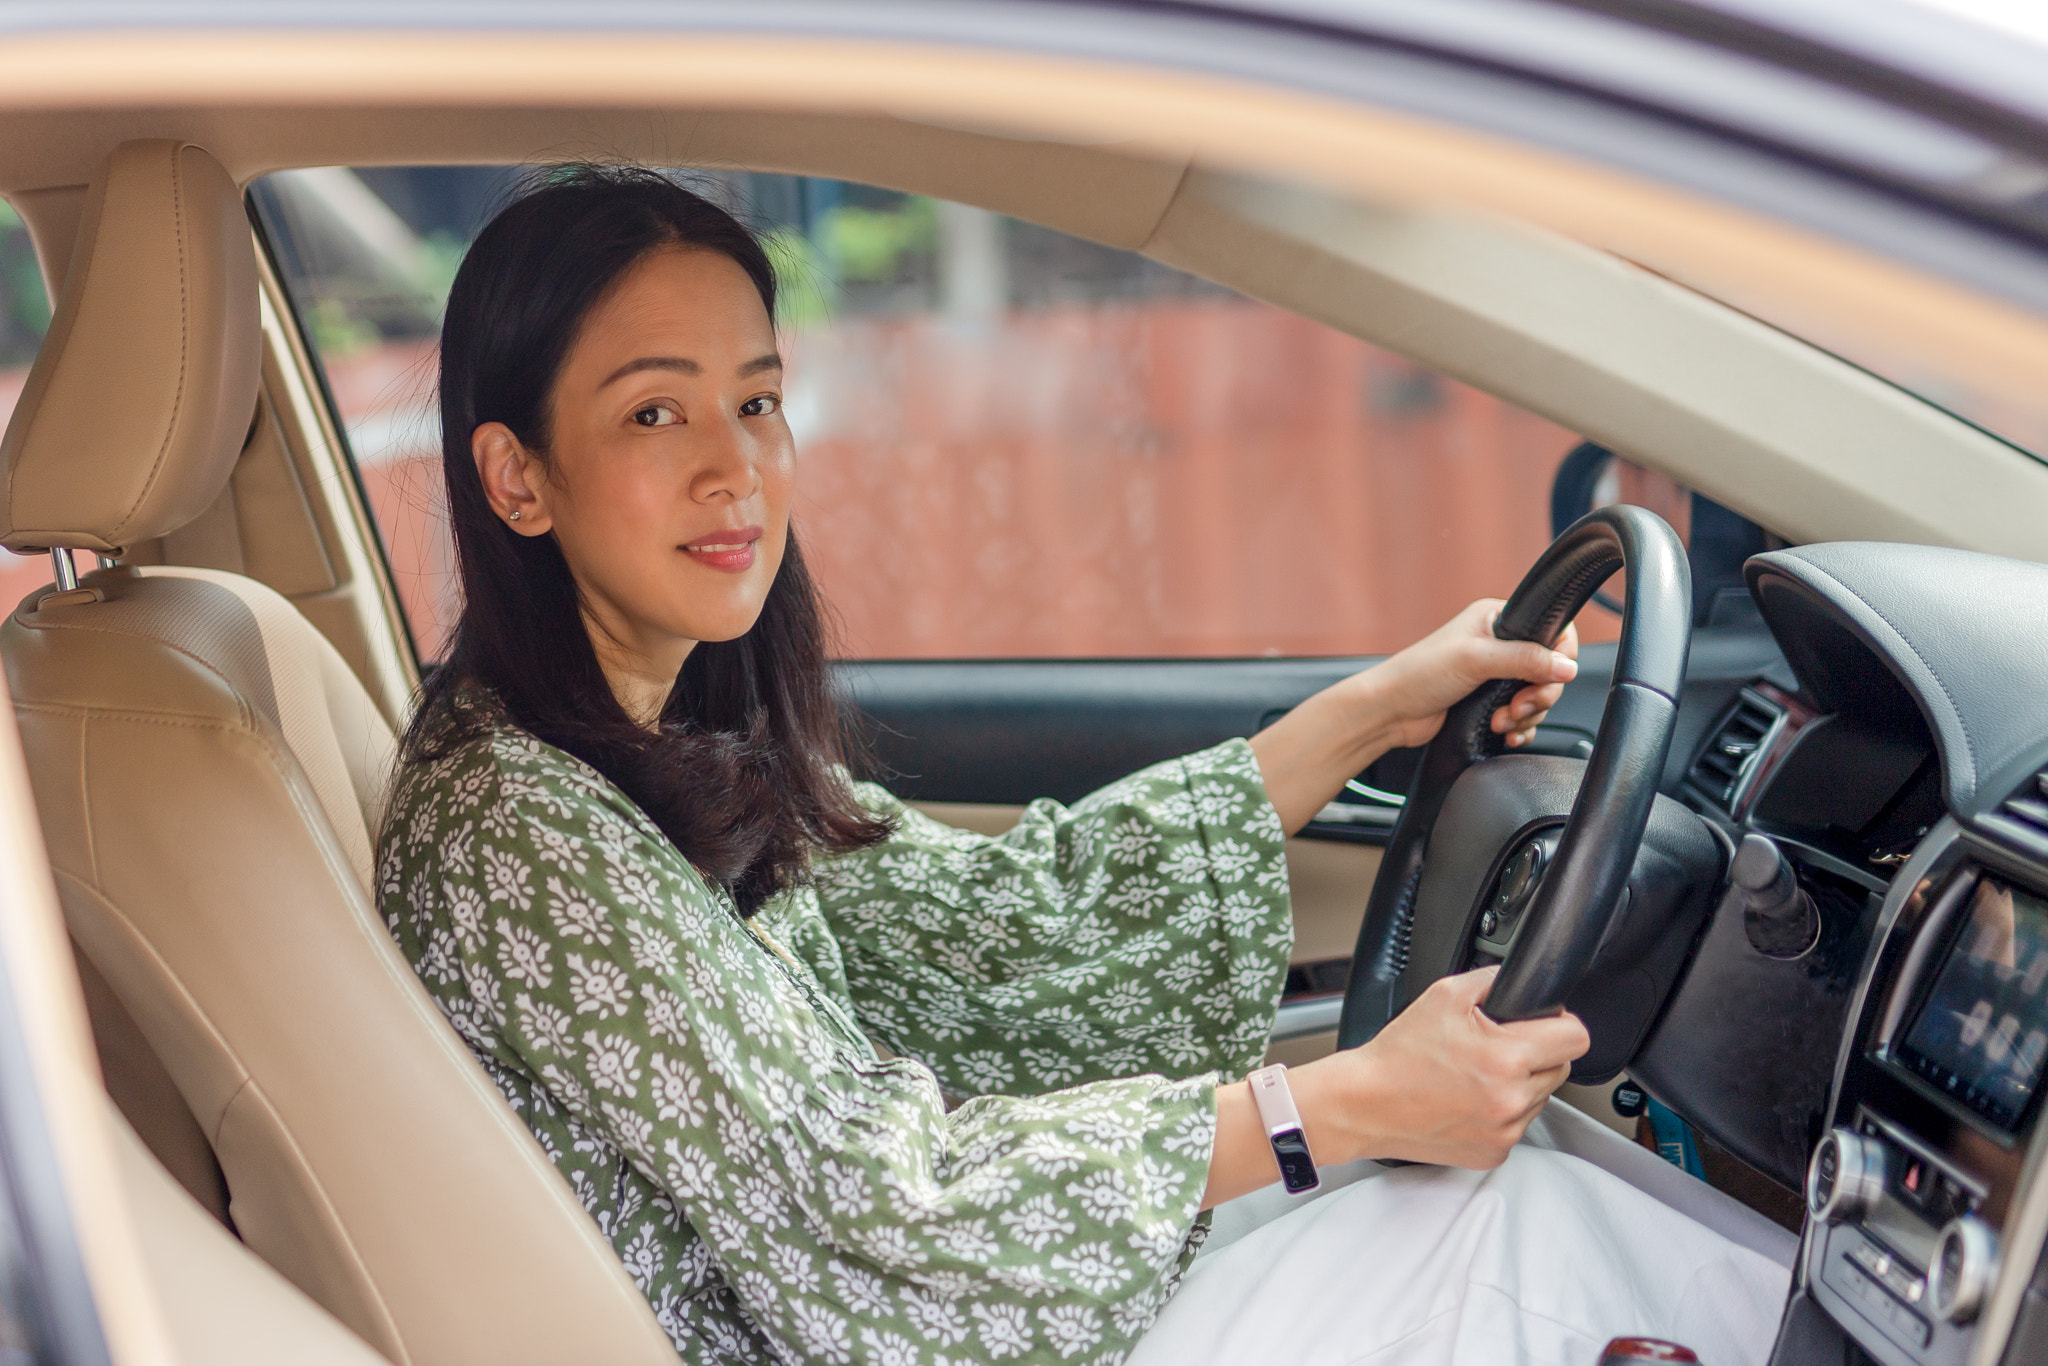
{"type": "Polygon", "coordinates": [[[631,803],[520,743],[399,836],[446,913],[395,928],[457,1028],[664,1188],[791,1360],[1120,1356],[1192,1255],[1219,1077],[948,1114],[631,803]]]}

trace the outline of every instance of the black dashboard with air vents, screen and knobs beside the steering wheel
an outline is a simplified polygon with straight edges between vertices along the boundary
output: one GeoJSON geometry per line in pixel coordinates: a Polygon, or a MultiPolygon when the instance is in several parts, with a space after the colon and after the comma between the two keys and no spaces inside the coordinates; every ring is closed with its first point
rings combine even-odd
{"type": "Polygon", "coordinates": [[[1741,688],[1679,797],[1769,838],[1819,930],[1759,952],[1731,889],[1630,1073],[1806,1196],[1774,1362],[2048,1360],[2048,567],[1747,578],[1798,686],[1741,688]]]}

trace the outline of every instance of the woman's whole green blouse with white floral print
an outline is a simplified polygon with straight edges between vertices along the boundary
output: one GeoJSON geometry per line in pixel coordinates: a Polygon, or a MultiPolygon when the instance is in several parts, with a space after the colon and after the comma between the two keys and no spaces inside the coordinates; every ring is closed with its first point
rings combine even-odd
{"type": "Polygon", "coordinates": [[[860,799],[895,836],[741,922],[500,729],[399,776],[379,903],[684,1360],[1118,1362],[1200,1245],[1210,1087],[1286,971],[1251,750],[997,840],[860,799]]]}

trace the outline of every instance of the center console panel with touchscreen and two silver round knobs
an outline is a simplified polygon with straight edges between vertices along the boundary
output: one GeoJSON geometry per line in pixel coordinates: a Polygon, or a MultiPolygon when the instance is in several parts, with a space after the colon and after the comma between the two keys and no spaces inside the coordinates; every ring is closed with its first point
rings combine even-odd
{"type": "Polygon", "coordinates": [[[1806,1176],[1806,1292],[1888,1366],[1962,1366],[2048,1071],[2048,870],[1956,834],[1882,932],[1806,1176]]]}

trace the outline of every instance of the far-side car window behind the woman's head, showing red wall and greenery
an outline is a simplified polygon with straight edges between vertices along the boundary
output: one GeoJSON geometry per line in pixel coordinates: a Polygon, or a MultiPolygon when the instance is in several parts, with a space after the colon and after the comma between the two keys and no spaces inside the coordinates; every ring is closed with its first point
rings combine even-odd
{"type": "MultiPolygon", "coordinates": [[[[1550,541],[1577,436],[1401,356],[967,205],[680,174],[778,264],[797,532],[850,657],[1382,653],[1505,596],[1550,541]]],[[[322,168],[252,190],[426,661],[459,610],[440,307],[516,184],[322,168]]]]}

